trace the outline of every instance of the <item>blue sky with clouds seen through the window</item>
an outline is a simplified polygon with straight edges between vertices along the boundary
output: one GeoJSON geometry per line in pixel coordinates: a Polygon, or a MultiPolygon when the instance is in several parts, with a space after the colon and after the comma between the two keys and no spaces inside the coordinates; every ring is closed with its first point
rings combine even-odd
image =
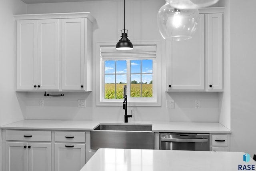
{"type": "MultiPolygon", "coordinates": [[[[131,81],[136,80],[140,82],[140,73],[142,73],[142,82],[150,82],[152,80],[152,60],[131,60],[131,81]],[[141,66],[142,65],[142,66],[141,66]],[[141,70],[140,71],[140,66],[141,70]],[[148,74],[149,73],[149,74],[148,74]]],[[[126,60],[116,61],[116,83],[126,82],[126,60]],[[119,75],[120,74],[120,75],[119,75]]],[[[115,73],[115,61],[105,61],[105,74],[114,74],[115,73]]],[[[105,75],[106,83],[114,83],[114,75],[105,75]]]]}

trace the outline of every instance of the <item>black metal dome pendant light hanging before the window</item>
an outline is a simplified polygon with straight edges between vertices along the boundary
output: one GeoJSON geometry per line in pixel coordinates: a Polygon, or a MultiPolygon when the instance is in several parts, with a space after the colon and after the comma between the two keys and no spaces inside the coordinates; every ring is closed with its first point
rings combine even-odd
{"type": "Polygon", "coordinates": [[[130,42],[130,40],[127,38],[128,37],[128,30],[127,33],[125,32],[125,0],[124,0],[124,29],[121,30],[121,39],[119,40],[119,42],[117,42],[116,44],[116,49],[117,50],[132,50],[133,49],[133,45],[132,42],[130,42]],[[124,31],[122,33],[122,31],[124,31]]]}

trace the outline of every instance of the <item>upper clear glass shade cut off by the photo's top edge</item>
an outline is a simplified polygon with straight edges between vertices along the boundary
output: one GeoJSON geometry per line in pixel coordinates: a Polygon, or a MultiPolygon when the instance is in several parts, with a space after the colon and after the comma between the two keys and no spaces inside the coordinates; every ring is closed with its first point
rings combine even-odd
{"type": "Polygon", "coordinates": [[[166,0],[170,6],[178,9],[198,9],[216,4],[219,0],[166,0]]]}

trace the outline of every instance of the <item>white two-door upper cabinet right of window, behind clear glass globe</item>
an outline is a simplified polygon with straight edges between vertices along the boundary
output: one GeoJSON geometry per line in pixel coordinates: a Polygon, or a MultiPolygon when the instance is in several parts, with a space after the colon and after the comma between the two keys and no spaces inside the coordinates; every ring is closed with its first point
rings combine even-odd
{"type": "Polygon", "coordinates": [[[166,40],[166,91],[223,91],[222,13],[199,14],[192,39],[166,40]]]}

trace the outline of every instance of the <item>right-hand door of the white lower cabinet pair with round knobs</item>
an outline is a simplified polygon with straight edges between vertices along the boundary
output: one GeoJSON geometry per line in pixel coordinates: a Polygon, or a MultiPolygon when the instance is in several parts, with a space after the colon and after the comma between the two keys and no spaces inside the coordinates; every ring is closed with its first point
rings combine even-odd
{"type": "Polygon", "coordinates": [[[28,171],[52,170],[51,143],[28,143],[28,171]]]}

